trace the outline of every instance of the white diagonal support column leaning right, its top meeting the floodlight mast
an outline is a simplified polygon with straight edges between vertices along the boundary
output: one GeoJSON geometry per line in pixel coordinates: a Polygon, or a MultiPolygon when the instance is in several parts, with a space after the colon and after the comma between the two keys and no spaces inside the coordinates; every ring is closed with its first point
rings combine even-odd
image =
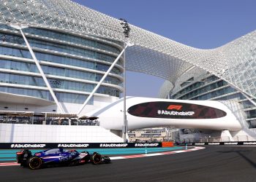
{"type": "MultiPolygon", "coordinates": [[[[126,46],[124,47],[124,50],[128,47],[128,44],[126,44],[126,46]]],[[[102,82],[105,80],[105,78],[108,76],[108,74],[110,73],[110,71],[112,70],[112,68],[116,65],[117,61],[119,60],[119,58],[121,57],[121,55],[124,53],[124,50],[122,50],[120,52],[120,54],[118,55],[118,57],[116,58],[116,60],[114,60],[114,62],[112,63],[112,65],[110,66],[110,68],[108,68],[108,71],[104,74],[104,76],[102,76],[102,79],[100,79],[99,83],[97,84],[96,87],[94,87],[94,90],[92,90],[92,92],[90,93],[89,97],[86,99],[86,101],[83,103],[83,106],[80,107],[79,111],[78,111],[78,116],[80,115],[81,111],[83,111],[83,108],[86,106],[86,104],[89,102],[89,100],[91,99],[91,97],[94,95],[94,93],[97,91],[97,89],[99,88],[99,86],[102,84],[102,82]]]]}

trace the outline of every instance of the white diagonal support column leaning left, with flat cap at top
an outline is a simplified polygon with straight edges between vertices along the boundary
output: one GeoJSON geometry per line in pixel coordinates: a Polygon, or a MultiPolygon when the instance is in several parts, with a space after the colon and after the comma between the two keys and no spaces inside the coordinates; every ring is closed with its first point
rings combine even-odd
{"type": "Polygon", "coordinates": [[[42,79],[45,81],[45,84],[48,87],[48,90],[50,91],[50,95],[53,97],[53,100],[55,101],[55,103],[58,106],[61,113],[64,113],[64,109],[62,108],[61,104],[59,103],[58,99],[56,98],[56,95],[54,94],[53,89],[50,87],[48,79],[46,78],[45,73],[42,71],[39,61],[37,60],[36,55],[34,55],[34,51],[31,49],[31,47],[29,45],[29,41],[26,39],[26,36],[24,35],[24,33],[22,31],[22,28],[27,28],[27,26],[26,25],[25,26],[24,25],[10,25],[10,26],[12,28],[20,30],[20,33],[23,36],[24,41],[26,42],[26,46],[29,48],[29,52],[34,60],[34,63],[36,63],[39,73],[41,74],[42,79]]]}

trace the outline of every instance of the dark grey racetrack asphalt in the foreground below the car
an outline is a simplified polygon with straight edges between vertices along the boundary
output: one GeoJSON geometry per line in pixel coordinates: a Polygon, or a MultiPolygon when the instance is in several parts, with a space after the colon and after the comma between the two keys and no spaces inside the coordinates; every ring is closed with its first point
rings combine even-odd
{"type": "Polygon", "coordinates": [[[256,146],[206,146],[180,154],[113,160],[108,165],[1,167],[0,181],[256,181],[256,146]]]}

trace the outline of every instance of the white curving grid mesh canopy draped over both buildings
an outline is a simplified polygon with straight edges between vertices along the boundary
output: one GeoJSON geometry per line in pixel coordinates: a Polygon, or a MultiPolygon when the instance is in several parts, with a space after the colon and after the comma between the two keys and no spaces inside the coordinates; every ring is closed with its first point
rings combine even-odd
{"type": "MultiPolygon", "coordinates": [[[[1,0],[0,23],[127,41],[121,21],[69,0],[1,0]]],[[[256,98],[256,31],[212,50],[200,50],[129,25],[127,70],[176,82],[197,66],[256,98]]],[[[170,87],[170,84],[167,84],[170,87]]]]}

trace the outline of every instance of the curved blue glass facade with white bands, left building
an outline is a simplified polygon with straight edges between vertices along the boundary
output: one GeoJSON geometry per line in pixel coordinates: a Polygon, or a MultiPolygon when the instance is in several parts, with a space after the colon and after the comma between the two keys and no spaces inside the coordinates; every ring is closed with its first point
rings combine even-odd
{"type": "MultiPolygon", "coordinates": [[[[97,84],[91,81],[99,82],[102,79],[123,46],[118,41],[76,36],[42,28],[25,28],[23,31],[37,59],[44,61],[40,65],[56,97],[64,103],[84,103],[88,94],[74,91],[91,92],[97,84]],[[54,76],[61,77],[53,78],[54,76]]],[[[29,50],[24,47],[26,44],[20,33],[7,25],[0,25],[0,44],[0,92],[53,101],[29,50]],[[12,58],[4,58],[4,55],[12,58]],[[26,87],[21,88],[20,85],[26,87]],[[36,87],[29,88],[30,86],[36,87]]],[[[105,83],[110,85],[99,87],[97,93],[119,97],[121,90],[116,86],[122,84],[122,68],[120,59],[118,65],[110,71],[113,76],[105,79],[105,83]]],[[[93,104],[93,99],[89,104],[93,104]]]]}

